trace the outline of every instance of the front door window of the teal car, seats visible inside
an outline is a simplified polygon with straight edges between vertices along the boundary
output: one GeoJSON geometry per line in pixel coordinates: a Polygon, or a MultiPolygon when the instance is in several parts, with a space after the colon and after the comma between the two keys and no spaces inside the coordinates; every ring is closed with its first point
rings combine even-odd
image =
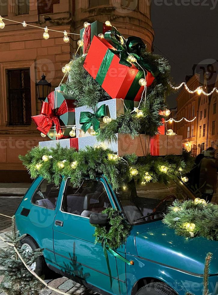
{"type": "Polygon", "coordinates": [[[101,181],[83,179],[77,188],[67,182],[61,205],[63,212],[89,217],[92,212],[101,213],[109,207],[111,202],[101,181]]]}

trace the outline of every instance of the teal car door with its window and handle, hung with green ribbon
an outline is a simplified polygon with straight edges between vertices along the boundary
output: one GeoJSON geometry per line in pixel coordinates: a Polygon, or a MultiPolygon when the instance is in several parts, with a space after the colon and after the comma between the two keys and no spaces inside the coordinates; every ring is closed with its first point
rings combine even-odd
{"type": "MultiPolygon", "coordinates": [[[[101,244],[95,244],[95,228],[89,223],[92,212],[115,207],[104,179],[83,179],[82,185],[73,188],[65,183],[54,220],[54,252],[59,268],[107,292],[126,294],[125,262],[108,253],[112,286],[107,262],[101,244]]],[[[125,246],[119,251],[125,256],[125,246]]]]}

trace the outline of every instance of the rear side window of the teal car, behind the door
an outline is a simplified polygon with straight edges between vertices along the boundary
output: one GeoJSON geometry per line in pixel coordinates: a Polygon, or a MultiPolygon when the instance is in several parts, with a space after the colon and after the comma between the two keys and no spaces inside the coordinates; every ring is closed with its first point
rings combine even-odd
{"type": "Polygon", "coordinates": [[[48,183],[46,179],[43,179],[32,196],[32,203],[40,207],[55,209],[59,190],[59,186],[48,183]]]}

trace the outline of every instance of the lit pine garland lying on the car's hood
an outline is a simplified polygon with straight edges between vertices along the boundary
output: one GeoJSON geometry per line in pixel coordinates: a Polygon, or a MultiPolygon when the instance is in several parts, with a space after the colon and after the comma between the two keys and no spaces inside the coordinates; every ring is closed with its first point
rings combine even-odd
{"type": "Polygon", "coordinates": [[[180,236],[218,241],[218,206],[202,199],[174,201],[163,222],[180,236]]]}

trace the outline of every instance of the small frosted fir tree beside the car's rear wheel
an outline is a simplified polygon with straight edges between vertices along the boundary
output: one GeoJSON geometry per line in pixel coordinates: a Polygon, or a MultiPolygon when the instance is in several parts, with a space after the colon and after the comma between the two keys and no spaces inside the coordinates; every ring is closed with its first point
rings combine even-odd
{"type": "MultiPolygon", "coordinates": [[[[12,217],[12,236],[6,235],[8,243],[12,243],[19,250],[27,265],[31,266],[36,259],[42,255],[42,250],[38,249],[31,253],[20,249],[19,243],[25,235],[19,235],[16,230],[15,216],[12,217]]],[[[8,295],[38,295],[42,284],[33,277],[26,269],[23,262],[17,256],[13,247],[8,249],[0,248],[0,276],[3,280],[0,284],[0,290],[8,295]]]]}

